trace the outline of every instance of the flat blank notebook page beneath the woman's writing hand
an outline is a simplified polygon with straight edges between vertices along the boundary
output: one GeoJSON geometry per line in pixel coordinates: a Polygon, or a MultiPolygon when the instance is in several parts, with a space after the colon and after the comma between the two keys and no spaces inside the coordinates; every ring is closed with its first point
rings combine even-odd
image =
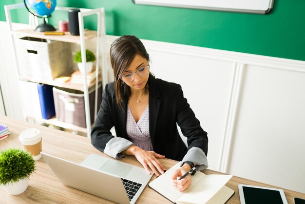
{"type": "MultiPolygon", "coordinates": [[[[187,192],[187,190],[184,190],[183,192],[180,192],[172,185],[172,174],[174,170],[179,168],[180,162],[172,166],[169,170],[167,170],[164,174],[153,180],[149,186],[175,203],[175,201],[181,197],[184,193],[187,192]]],[[[196,184],[199,180],[201,180],[203,177],[205,177],[205,174],[202,172],[196,172],[195,175],[191,176],[191,186],[190,188],[196,184]]],[[[189,188],[189,189],[190,189],[189,188]]]]}

